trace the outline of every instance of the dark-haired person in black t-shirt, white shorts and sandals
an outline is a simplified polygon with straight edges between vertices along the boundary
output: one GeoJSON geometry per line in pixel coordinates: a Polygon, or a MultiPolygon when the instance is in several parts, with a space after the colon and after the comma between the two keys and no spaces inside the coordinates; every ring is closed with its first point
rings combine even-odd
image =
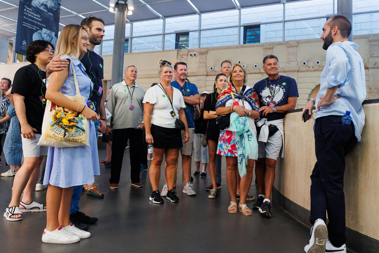
{"type": "Polygon", "coordinates": [[[26,59],[31,63],[17,70],[11,93],[20,122],[24,163],[13,181],[12,199],[5,209],[8,221],[23,219],[23,212],[46,211],[43,204],[33,201],[42,159],[47,147],[38,146],[45,111],[46,66],[53,58],[53,45],[46,41],[31,42],[26,48],[26,59]],[[21,194],[22,200],[20,202],[21,194]]]}

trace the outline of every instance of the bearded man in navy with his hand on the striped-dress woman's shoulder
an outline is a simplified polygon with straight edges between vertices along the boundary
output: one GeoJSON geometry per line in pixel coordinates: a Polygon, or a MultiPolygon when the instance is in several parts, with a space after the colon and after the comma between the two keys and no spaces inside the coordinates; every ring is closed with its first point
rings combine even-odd
{"type": "MultiPolygon", "coordinates": [[[[88,46],[87,53],[84,54],[83,58],[81,58],[81,63],[84,65],[85,72],[88,77],[92,80],[93,89],[89,96],[89,100],[93,102],[94,110],[100,116],[100,122],[95,122],[95,127],[101,133],[105,133],[107,129],[107,123],[105,121],[105,106],[103,100],[103,83],[102,79],[104,78],[104,70],[103,70],[103,58],[95,53],[93,49],[96,45],[99,45],[104,37],[104,21],[101,18],[96,18],[90,16],[88,18],[84,18],[81,23],[87,33],[88,40],[90,45],[88,46]]],[[[65,59],[60,59],[60,55],[54,57],[50,64],[47,66],[47,69],[51,72],[63,70],[65,66],[68,66],[68,61],[65,59]]],[[[83,212],[79,211],[79,200],[81,196],[82,186],[74,186],[73,190],[73,198],[71,200],[71,208],[70,208],[70,218],[74,225],[82,230],[87,230],[87,224],[93,224],[98,219],[95,217],[89,217],[85,215],[83,212]]],[[[104,194],[99,192],[97,188],[93,185],[86,186],[87,188],[87,196],[93,198],[104,198],[104,194]]]]}

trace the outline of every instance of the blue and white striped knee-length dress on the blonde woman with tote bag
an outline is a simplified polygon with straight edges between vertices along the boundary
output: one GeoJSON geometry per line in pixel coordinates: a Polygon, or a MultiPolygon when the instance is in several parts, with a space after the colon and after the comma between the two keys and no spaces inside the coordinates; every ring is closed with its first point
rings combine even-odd
{"type": "MultiPolygon", "coordinates": [[[[62,58],[70,59],[68,56],[62,58]]],[[[80,60],[71,59],[69,76],[62,85],[60,92],[70,96],[76,94],[73,66],[75,67],[80,94],[86,98],[85,102],[87,102],[92,90],[92,82],[84,72],[84,66],[80,60]]],[[[49,147],[43,184],[68,188],[93,183],[95,181],[94,175],[100,175],[96,131],[93,121],[89,121],[89,147],[49,147]]]]}

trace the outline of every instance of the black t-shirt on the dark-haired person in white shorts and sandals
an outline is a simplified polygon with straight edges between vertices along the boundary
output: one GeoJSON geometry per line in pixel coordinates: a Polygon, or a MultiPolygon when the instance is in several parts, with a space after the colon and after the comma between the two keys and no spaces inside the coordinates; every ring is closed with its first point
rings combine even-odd
{"type": "Polygon", "coordinates": [[[43,114],[46,103],[46,72],[38,69],[36,64],[30,64],[17,70],[12,86],[12,94],[17,93],[25,97],[25,113],[28,124],[41,134],[43,114]]]}

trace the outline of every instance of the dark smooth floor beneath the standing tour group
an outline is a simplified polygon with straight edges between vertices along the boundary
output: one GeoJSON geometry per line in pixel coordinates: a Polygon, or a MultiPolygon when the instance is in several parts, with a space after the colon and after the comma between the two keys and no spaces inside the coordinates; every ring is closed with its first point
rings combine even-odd
{"type": "MultiPolygon", "coordinates": [[[[182,184],[176,191],[180,203],[165,200],[163,205],[149,201],[152,188],[148,171],[141,172],[143,188],[130,186],[129,152],[126,149],[124,166],[118,190],[109,189],[110,169],[101,164],[101,176],[96,177],[97,188],[104,199],[86,197],[80,199],[80,211],[96,216],[99,221],[90,225],[92,236],[72,245],[43,244],[41,236],[46,224],[45,213],[26,213],[24,220],[9,222],[0,218],[1,253],[96,253],[96,252],[182,252],[182,253],[302,253],[309,240],[309,229],[295,220],[273,201],[271,218],[254,211],[252,216],[241,212],[229,214],[229,194],[223,161],[223,182],[218,198],[207,198],[205,187],[211,182],[206,178],[194,178],[196,197],[182,193],[182,184]]],[[[99,150],[100,160],[106,150],[99,150]]],[[[1,172],[9,167],[4,166],[1,172]]],[[[163,186],[163,169],[160,187],[163,186]]],[[[192,173],[194,161],[192,162],[192,173]]],[[[179,171],[178,182],[182,177],[179,171]]],[[[0,178],[0,211],[11,198],[12,177],[0,178]]],[[[255,186],[250,193],[257,196],[255,186]]],[[[46,191],[36,192],[36,200],[45,203],[46,191]]],[[[254,201],[248,201],[251,208],[254,201]]]]}

